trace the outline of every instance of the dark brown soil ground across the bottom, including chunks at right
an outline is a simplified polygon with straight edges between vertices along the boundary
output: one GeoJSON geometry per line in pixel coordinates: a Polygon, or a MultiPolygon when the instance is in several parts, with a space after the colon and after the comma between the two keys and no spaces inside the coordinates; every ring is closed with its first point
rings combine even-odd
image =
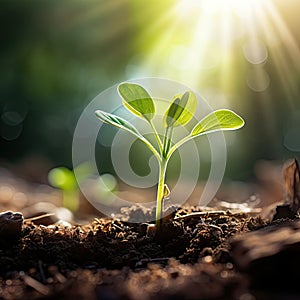
{"type": "Polygon", "coordinates": [[[262,213],[179,207],[159,231],[136,223],[154,214],[141,207],[75,225],[2,213],[0,300],[300,299],[299,166],[286,170],[286,201],[262,213]]]}

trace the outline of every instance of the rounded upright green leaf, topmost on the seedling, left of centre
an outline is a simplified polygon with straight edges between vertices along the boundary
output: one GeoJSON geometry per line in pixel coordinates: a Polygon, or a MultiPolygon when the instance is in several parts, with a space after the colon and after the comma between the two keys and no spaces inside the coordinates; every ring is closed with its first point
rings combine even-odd
{"type": "Polygon", "coordinates": [[[140,85],[124,82],[118,86],[124,106],[138,117],[150,121],[155,113],[153,99],[140,85]]]}

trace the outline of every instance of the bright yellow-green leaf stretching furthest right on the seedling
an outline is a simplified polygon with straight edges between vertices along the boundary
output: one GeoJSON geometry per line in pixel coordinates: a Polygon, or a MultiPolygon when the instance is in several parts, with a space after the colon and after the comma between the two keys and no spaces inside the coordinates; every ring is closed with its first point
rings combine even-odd
{"type": "Polygon", "coordinates": [[[191,136],[198,136],[219,130],[236,130],[243,127],[244,120],[229,109],[220,109],[203,118],[192,130],[191,136]]]}

